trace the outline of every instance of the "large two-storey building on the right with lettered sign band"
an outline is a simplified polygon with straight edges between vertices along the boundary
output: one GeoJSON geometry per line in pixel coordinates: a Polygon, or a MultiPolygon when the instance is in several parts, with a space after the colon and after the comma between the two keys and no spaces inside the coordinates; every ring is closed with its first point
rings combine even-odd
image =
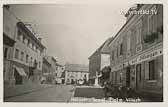
{"type": "Polygon", "coordinates": [[[128,11],[126,23],[109,44],[110,80],[162,95],[163,5],[140,4],[128,11]]]}

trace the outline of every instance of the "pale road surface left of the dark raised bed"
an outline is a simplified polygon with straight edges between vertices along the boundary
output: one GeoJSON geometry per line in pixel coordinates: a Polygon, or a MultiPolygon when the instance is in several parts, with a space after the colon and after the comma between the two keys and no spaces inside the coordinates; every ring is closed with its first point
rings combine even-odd
{"type": "Polygon", "coordinates": [[[74,92],[73,86],[53,85],[53,87],[45,88],[20,96],[5,99],[6,102],[69,102],[74,92]]]}

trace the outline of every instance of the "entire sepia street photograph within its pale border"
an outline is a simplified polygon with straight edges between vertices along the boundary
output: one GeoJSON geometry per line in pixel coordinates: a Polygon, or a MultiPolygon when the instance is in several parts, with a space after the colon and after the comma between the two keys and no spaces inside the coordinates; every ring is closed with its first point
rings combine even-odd
{"type": "Polygon", "coordinates": [[[3,4],[3,102],[164,102],[163,4],[3,4]]]}

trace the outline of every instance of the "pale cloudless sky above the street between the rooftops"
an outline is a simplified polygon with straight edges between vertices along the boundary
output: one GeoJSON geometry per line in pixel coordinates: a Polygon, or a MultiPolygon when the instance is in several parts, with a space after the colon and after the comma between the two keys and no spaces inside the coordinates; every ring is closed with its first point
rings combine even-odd
{"type": "Polygon", "coordinates": [[[46,54],[61,64],[89,64],[88,57],[124,25],[132,4],[18,4],[11,11],[32,23],[46,54]]]}

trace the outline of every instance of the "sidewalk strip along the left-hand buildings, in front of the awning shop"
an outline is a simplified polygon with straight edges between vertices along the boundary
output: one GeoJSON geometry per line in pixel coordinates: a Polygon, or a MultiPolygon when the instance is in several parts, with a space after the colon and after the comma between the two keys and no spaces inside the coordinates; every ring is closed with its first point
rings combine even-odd
{"type": "Polygon", "coordinates": [[[42,90],[45,88],[52,87],[50,84],[35,84],[35,83],[27,83],[23,85],[16,85],[13,87],[4,87],[4,100],[10,97],[19,96],[27,93],[31,93],[33,91],[42,90]]]}

